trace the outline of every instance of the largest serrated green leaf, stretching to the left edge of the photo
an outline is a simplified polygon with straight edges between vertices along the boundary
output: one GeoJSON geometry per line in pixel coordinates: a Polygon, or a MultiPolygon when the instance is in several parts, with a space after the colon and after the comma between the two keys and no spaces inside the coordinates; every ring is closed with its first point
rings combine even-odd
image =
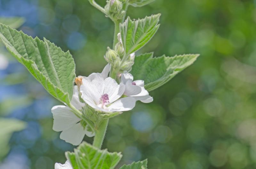
{"type": "Polygon", "coordinates": [[[33,39],[0,24],[0,38],[11,54],[58,100],[69,104],[73,94],[74,59],[44,38],[33,39]]]}

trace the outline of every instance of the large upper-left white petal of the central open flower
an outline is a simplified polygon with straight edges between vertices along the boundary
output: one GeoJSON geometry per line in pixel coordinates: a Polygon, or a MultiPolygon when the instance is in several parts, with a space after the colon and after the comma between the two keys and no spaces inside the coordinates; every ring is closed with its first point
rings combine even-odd
{"type": "Polygon", "coordinates": [[[84,78],[82,82],[80,92],[84,101],[86,103],[99,104],[100,97],[103,95],[104,91],[104,79],[102,75],[100,73],[92,73],[88,78],[84,78]]]}

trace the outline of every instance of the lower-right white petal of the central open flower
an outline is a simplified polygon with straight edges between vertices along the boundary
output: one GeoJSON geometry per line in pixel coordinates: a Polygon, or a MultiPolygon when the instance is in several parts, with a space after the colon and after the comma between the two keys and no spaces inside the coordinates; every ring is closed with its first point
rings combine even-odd
{"type": "Polygon", "coordinates": [[[133,97],[124,97],[116,102],[112,103],[108,110],[111,112],[114,111],[129,111],[132,110],[135,107],[136,99],[133,97]]]}

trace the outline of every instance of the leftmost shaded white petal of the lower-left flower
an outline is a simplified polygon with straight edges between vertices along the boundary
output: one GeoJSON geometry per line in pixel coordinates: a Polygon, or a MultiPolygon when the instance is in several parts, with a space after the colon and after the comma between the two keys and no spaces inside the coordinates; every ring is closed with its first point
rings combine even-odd
{"type": "Polygon", "coordinates": [[[63,131],[73,127],[79,119],[67,106],[52,107],[54,131],[63,131]]]}

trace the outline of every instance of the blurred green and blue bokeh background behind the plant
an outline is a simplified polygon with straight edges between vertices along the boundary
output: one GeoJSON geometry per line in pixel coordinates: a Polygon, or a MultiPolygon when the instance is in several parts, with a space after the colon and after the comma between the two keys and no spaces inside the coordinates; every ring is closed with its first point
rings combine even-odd
{"type": "MultiPolygon", "coordinates": [[[[150,92],[153,103],[137,103],[110,120],[103,148],[121,151],[120,165],[148,158],[149,169],[256,168],[255,7],[252,0],[156,0],[129,7],[131,18],[162,13],[159,31],[137,54],[201,56],[150,92]]],[[[23,17],[19,30],[70,50],[77,75],[106,65],[114,26],[87,0],[0,0],[0,16],[23,17]]],[[[0,169],[53,169],[74,148],[52,130],[51,108],[61,103],[0,50],[0,115],[26,122],[10,135],[0,169]]]]}

